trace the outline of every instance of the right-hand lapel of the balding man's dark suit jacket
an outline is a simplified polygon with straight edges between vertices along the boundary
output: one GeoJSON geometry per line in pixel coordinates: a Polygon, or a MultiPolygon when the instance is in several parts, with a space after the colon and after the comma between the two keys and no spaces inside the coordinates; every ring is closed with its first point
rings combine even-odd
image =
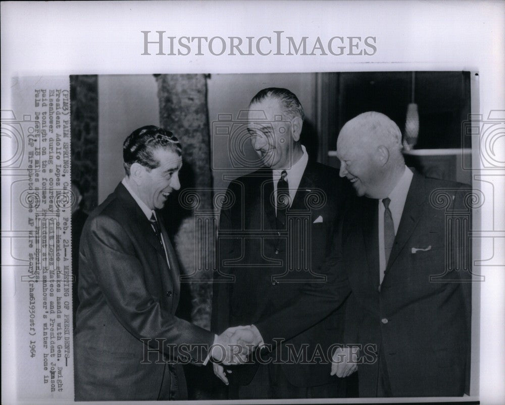
{"type": "Polygon", "coordinates": [[[396,232],[396,237],[394,239],[393,249],[391,250],[391,255],[389,256],[389,261],[386,265],[386,271],[394,263],[396,257],[414,232],[414,229],[423,213],[423,204],[425,203],[425,200],[426,192],[422,176],[418,173],[414,173],[409,193],[407,194],[407,200],[405,201],[405,206],[403,207],[403,212],[401,214],[398,231],[396,232]]]}

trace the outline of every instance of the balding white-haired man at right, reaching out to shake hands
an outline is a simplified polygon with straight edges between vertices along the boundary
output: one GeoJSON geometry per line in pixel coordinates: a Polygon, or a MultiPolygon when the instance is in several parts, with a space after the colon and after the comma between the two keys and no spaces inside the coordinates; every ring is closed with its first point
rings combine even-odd
{"type": "MultiPolygon", "coordinates": [[[[469,370],[471,190],[405,166],[401,133],[366,112],[342,128],[340,176],[360,199],[344,215],[321,272],[274,316],[247,332],[255,343],[289,338],[326,316],[352,292],[344,341],[332,374],[359,371],[360,396],[461,396],[469,370]],[[289,319],[290,322],[281,322],[289,319]]],[[[240,333],[239,333],[240,332],[240,333]]],[[[248,338],[248,340],[251,340],[248,338]]]]}

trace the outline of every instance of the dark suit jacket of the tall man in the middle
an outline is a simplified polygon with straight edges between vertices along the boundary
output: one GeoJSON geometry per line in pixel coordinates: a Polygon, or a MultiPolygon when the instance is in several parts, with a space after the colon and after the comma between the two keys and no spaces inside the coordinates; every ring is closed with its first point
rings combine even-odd
{"type": "MultiPolygon", "coordinates": [[[[293,225],[289,230],[277,227],[273,191],[271,169],[240,177],[227,190],[228,201],[233,203],[220,214],[213,330],[221,332],[229,326],[254,324],[282,308],[297,294],[300,284],[319,279],[316,269],[331,248],[330,236],[345,199],[352,196],[337,170],[309,161],[287,210],[287,217],[292,218],[287,222],[293,225]],[[300,270],[288,271],[289,268],[300,270]]],[[[343,309],[331,312],[316,325],[309,325],[308,330],[300,330],[298,336],[290,336],[289,341],[280,345],[281,353],[277,356],[288,359],[288,345],[295,351],[308,345],[306,362],[312,359],[316,345],[326,354],[328,346],[338,342],[343,334],[343,309]]],[[[256,364],[236,367],[229,375],[230,384],[247,385],[257,367],[256,364]]],[[[281,367],[289,382],[300,387],[336,380],[330,377],[331,364],[324,361],[281,367]]]]}

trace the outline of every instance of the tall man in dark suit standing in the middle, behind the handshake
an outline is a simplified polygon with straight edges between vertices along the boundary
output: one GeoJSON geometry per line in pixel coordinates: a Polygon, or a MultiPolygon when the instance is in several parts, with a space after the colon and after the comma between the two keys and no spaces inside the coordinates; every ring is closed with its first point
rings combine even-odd
{"type": "MultiPolygon", "coordinates": [[[[289,90],[267,88],[250,102],[247,129],[264,167],[231,182],[233,204],[220,213],[212,310],[217,331],[255,323],[291,300],[300,283],[321,279],[315,269],[331,247],[351,190],[301,145],[303,120],[304,110],[289,90]]],[[[215,373],[229,380],[231,398],[345,396],[345,381],[330,376],[331,355],[317,357],[341,338],[343,314],[343,308],[333,311],[291,336],[269,364],[237,366],[231,374],[215,364],[215,373]],[[304,354],[294,360],[295,353],[304,354]]]]}

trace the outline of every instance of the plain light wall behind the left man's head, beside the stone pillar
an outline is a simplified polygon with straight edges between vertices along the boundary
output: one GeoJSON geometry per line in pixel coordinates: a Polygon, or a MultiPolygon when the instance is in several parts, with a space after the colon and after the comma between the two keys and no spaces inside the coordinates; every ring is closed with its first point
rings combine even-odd
{"type": "Polygon", "coordinates": [[[124,177],[123,141],[144,125],[160,125],[153,75],[98,76],[98,204],[124,177]]]}

